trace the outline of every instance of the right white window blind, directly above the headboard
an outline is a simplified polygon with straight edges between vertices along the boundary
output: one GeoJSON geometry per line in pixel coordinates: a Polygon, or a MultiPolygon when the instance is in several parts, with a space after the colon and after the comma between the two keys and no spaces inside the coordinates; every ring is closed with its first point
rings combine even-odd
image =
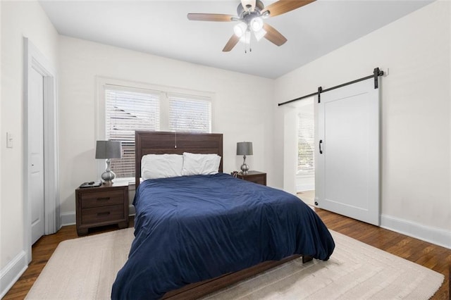
{"type": "Polygon", "coordinates": [[[168,94],[169,130],[178,132],[211,132],[209,97],[168,94]]]}

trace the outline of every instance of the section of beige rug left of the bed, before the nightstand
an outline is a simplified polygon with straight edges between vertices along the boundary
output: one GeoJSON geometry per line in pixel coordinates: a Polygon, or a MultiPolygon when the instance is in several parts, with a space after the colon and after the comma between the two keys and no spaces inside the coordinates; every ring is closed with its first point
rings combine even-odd
{"type": "Polygon", "coordinates": [[[68,239],[56,247],[25,299],[111,299],[133,228],[68,239]]]}

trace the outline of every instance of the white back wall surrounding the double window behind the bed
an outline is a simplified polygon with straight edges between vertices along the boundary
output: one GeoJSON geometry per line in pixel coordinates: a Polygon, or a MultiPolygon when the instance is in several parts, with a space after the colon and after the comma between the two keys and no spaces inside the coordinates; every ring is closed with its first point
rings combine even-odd
{"type": "Polygon", "coordinates": [[[214,93],[212,127],[223,133],[224,171],[237,170],[242,163],[236,142],[252,141],[249,165],[268,173],[268,185],[274,181],[273,80],[71,37],[62,36],[59,42],[63,223],[74,216],[75,188],[100,175],[94,159],[96,76],[214,93]]]}

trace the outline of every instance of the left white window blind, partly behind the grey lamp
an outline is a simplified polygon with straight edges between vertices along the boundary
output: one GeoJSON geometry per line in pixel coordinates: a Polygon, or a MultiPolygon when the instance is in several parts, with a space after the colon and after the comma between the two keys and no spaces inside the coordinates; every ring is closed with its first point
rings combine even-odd
{"type": "Polygon", "coordinates": [[[106,139],[122,142],[111,159],[116,177],[135,177],[135,130],[160,130],[159,92],[105,86],[106,139]]]}

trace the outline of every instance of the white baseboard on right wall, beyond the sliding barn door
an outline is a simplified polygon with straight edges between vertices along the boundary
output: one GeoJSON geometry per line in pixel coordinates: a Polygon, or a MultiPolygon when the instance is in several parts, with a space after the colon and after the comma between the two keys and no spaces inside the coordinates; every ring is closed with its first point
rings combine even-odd
{"type": "Polygon", "coordinates": [[[381,227],[451,249],[451,232],[441,228],[421,225],[390,215],[381,215],[381,227]]]}

